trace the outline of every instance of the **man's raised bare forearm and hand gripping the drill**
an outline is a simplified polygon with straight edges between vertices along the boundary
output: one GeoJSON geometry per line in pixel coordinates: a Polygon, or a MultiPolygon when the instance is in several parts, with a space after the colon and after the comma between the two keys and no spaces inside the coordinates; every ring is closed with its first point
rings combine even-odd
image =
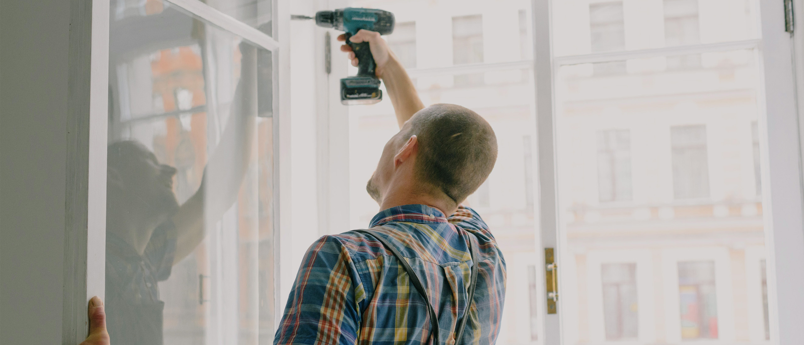
{"type": "MultiPolygon", "coordinates": [[[[413,114],[425,108],[419,99],[416,87],[408,77],[408,72],[404,70],[399,59],[396,59],[396,55],[388,48],[388,43],[379,36],[379,33],[359,30],[350,40],[353,43],[368,42],[371,55],[374,55],[374,61],[377,64],[376,74],[385,82],[385,89],[388,90],[388,96],[391,97],[391,103],[396,112],[396,121],[402,128],[404,122],[413,114]]],[[[346,41],[346,35],[338,36],[338,41],[346,41]]],[[[341,46],[341,51],[348,51],[352,66],[357,66],[358,61],[355,53],[351,51],[351,47],[344,44],[341,46]]]]}

